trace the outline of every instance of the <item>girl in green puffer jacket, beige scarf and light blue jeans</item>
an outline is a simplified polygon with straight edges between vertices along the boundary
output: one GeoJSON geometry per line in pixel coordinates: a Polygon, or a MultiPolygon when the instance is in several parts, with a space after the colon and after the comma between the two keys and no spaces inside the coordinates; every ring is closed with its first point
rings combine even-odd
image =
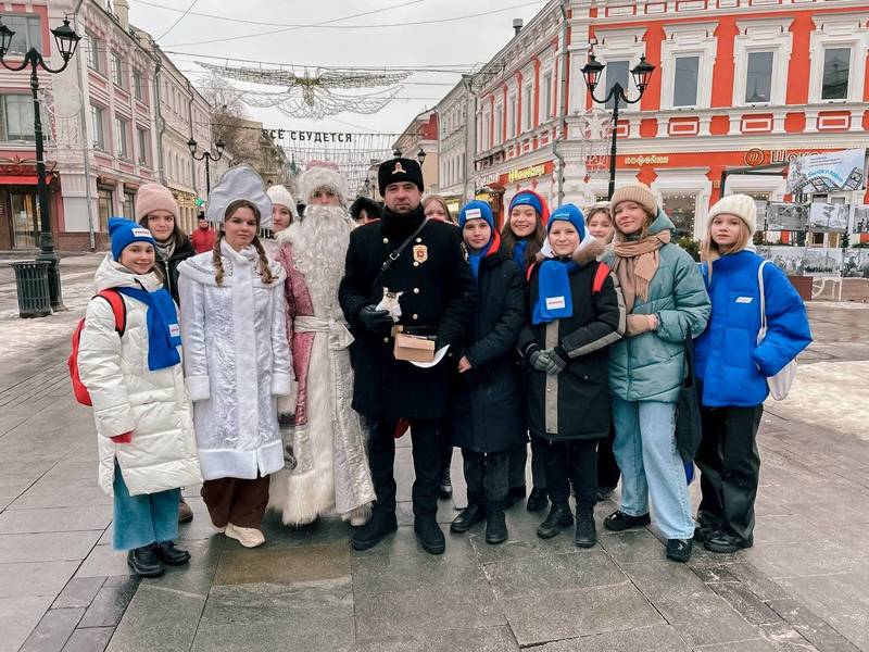
{"type": "Polygon", "coordinates": [[[676,402],[684,377],[684,342],[709,318],[709,297],[694,260],[670,243],[675,227],[648,187],[613,195],[616,236],[604,259],[628,311],[625,339],[609,348],[609,390],[621,468],[621,504],[604,519],[619,531],[648,525],[648,499],[667,557],[691,557],[694,521],[684,466],[676,450],[676,402]]]}

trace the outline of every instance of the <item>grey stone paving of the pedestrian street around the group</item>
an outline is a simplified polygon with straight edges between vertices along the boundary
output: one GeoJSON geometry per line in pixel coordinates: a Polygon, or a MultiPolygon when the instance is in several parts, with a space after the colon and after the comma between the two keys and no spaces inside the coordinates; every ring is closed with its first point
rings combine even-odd
{"type": "MultiPolygon", "coordinates": [[[[190,567],[141,581],[111,550],[91,415],[70,396],[80,312],[42,325],[0,317],[4,347],[43,330],[35,351],[0,364],[0,651],[869,650],[869,442],[865,425],[848,429],[869,421],[854,399],[869,378],[869,310],[810,313],[819,342],[795,389],[807,398],[771,403],[764,418],[748,551],[698,549],[680,565],[652,529],[602,528],[599,547],[579,550],[569,531],[538,539],[543,516],[516,505],[508,542],[488,546],[477,526],[448,534],[434,557],[413,534],[405,437],[401,527],[375,549],[353,552],[337,519],[290,529],[272,516],[266,546],[244,550],[213,532],[192,487],[197,515],[180,537],[190,567]],[[822,399],[810,396],[819,384],[822,399]],[[827,412],[848,419],[826,425],[827,412]]],[[[453,477],[462,506],[458,454],[453,477]]],[[[599,505],[599,527],[614,507],[599,505]]],[[[439,519],[455,513],[442,502],[439,519]]]]}

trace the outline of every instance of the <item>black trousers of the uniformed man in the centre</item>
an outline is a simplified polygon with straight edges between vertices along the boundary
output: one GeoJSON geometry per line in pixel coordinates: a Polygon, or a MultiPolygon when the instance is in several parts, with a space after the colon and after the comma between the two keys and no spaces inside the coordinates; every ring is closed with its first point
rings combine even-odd
{"type": "MultiPolygon", "coordinates": [[[[413,487],[414,515],[434,515],[441,481],[441,452],[438,421],[410,419],[412,453],[416,479],[413,487]]],[[[378,419],[371,424],[369,464],[377,493],[374,509],[395,512],[395,422],[378,419]]]]}

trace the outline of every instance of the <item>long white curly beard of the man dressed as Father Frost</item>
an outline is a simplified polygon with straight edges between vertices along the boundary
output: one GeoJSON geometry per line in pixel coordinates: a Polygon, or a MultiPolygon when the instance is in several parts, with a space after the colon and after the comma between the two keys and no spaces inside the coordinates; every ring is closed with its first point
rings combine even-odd
{"type": "Polygon", "coordinates": [[[294,222],[286,231],[295,266],[307,280],[315,312],[335,312],[352,229],[342,206],[308,205],[304,220],[294,222]]]}

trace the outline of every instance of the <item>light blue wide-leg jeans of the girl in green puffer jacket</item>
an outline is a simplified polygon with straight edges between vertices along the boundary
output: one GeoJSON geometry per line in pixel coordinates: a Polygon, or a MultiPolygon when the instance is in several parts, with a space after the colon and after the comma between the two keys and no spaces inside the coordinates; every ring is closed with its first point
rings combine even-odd
{"type": "Polygon", "coordinates": [[[621,506],[626,514],[648,513],[668,539],[694,536],[694,518],[682,459],[676,450],[676,403],[625,401],[613,397],[616,441],[613,452],[621,468],[621,506]]]}

